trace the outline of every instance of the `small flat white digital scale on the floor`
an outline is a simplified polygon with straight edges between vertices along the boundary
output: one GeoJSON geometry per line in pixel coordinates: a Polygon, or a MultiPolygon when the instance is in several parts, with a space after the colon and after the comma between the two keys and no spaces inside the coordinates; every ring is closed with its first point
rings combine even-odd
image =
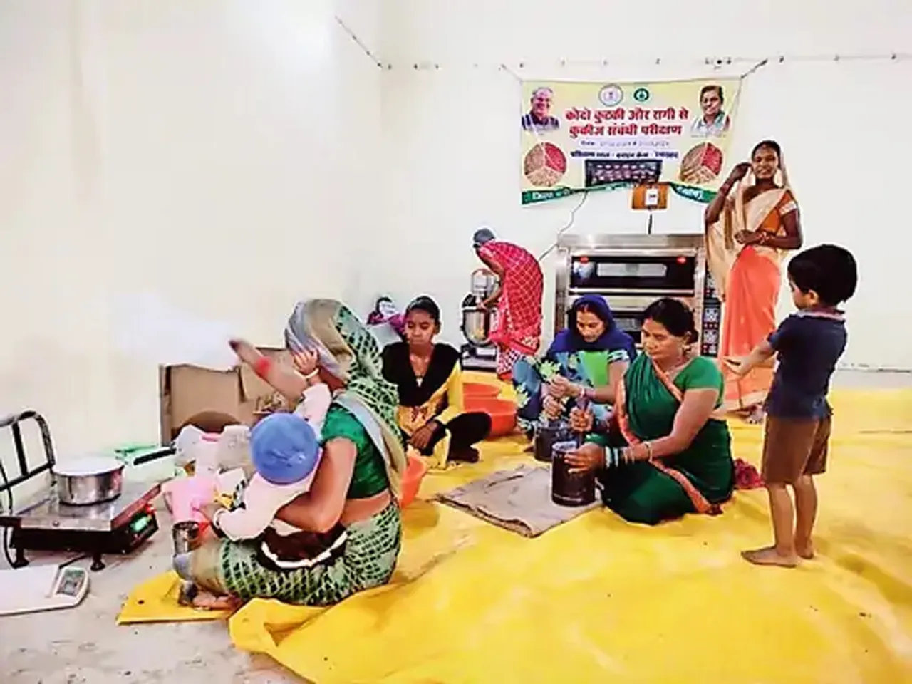
{"type": "Polygon", "coordinates": [[[67,565],[0,570],[0,616],[78,606],[88,593],[88,572],[67,565]]]}

